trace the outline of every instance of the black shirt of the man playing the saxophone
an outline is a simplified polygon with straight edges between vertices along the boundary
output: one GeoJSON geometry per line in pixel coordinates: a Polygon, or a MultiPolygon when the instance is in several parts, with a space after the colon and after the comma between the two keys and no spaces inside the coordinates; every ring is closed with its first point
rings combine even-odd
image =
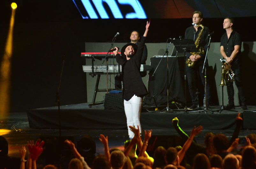
{"type": "MultiPolygon", "coordinates": [[[[199,35],[199,32],[201,31],[201,27],[198,27],[197,28],[197,31],[195,31],[194,29],[194,26],[190,26],[186,29],[185,31],[185,39],[192,39],[194,40],[194,42],[196,41],[198,35],[199,35]]],[[[203,64],[204,62],[204,57],[205,57],[205,54],[206,54],[206,50],[207,50],[207,38],[208,38],[208,35],[209,35],[209,28],[204,26],[204,29],[203,29],[203,32],[202,32],[202,35],[201,35],[201,39],[200,39],[200,42],[199,42],[199,46],[198,48],[201,46],[204,48],[204,54],[200,54],[201,58],[195,62],[197,65],[201,65],[203,64]]],[[[186,59],[189,58],[191,56],[190,53],[186,53],[186,59]]]]}

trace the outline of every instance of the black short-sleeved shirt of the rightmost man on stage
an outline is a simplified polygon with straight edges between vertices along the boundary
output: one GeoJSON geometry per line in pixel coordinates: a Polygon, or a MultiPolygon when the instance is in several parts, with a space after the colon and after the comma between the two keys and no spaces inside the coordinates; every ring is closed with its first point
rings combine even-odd
{"type": "MultiPolygon", "coordinates": [[[[220,39],[220,46],[223,46],[227,57],[231,56],[232,52],[235,49],[234,48],[235,45],[240,45],[240,47],[242,45],[242,41],[241,41],[241,37],[240,37],[239,33],[233,30],[228,39],[227,32],[225,32],[220,39]]],[[[240,53],[241,53],[241,48],[240,48],[237,56],[233,59],[234,63],[239,62],[240,53]]]]}

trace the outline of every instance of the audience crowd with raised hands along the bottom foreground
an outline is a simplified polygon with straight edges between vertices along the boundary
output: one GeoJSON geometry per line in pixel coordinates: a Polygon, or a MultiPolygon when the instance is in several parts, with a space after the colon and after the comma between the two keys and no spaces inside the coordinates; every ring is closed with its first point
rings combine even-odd
{"type": "Polygon", "coordinates": [[[20,159],[10,157],[8,142],[0,136],[0,169],[256,169],[256,134],[252,133],[245,137],[245,146],[238,149],[242,120],[238,113],[236,128],[230,140],[221,133],[216,135],[207,133],[204,138],[205,146],[202,146],[197,144],[194,138],[202,131],[202,126],[194,126],[188,136],[180,128],[178,118],[174,118],[172,125],[182,138],[182,145],[158,146],[153,157],[146,152],[152,130],[144,131],[142,140],[140,131],[135,126],[129,126],[135,137],[125,141],[124,151],[118,148],[109,150],[108,137],[101,134],[99,140],[104,146],[104,155],[95,156],[96,144],[90,137],[86,136],[78,141],[77,148],[67,139],[64,143],[72,152],[73,159],[66,166],[61,162],[58,166],[57,164],[40,166],[37,160],[47,146],[44,146],[45,142],[40,139],[35,143],[33,140],[28,141],[26,147],[20,149],[20,159]],[[27,158],[26,154],[28,154],[27,158]]]}

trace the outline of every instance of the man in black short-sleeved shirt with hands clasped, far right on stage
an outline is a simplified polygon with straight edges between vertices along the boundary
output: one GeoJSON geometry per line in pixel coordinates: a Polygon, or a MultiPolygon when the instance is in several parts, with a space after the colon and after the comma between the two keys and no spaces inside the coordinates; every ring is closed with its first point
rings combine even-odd
{"type": "MultiPolygon", "coordinates": [[[[223,21],[223,29],[226,32],[221,37],[220,53],[226,62],[234,71],[234,81],[238,88],[238,95],[241,102],[241,110],[246,110],[245,94],[241,82],[240,75],[240,53],[241,53],[241,37],[238,32],[233,30],[233,18],[226,17],[223,21]]],[[[235,109],[234,105],[234,87],[233,81],[226,81],[229,103],[225,109],[235,109]]]]}

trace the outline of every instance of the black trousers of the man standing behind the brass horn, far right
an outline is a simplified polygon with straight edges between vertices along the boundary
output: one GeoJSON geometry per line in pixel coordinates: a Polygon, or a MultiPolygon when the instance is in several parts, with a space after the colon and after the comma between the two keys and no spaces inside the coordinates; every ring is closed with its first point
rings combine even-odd
{"type": "MultiPolygon", "coordinates": [[[[245,104],[245,93],[244,93],[244,89],[243,89],[243,85],[242,85],[242,81],[241,81],[241,72],[240,72],[240,64],[239,63],[231,63],[231,69],[232,71],[234,71],[234,81],[235,84],[238,88],[238,96],[240,99],[241,104],[245,104]]],[[[230,105],[234,105],[234,86],[233,86],[233,82],[226,81],[226,85],[227,85],[227,91],[228,91],[228,98],[229,98],[229,104],[230,105]]]]}

